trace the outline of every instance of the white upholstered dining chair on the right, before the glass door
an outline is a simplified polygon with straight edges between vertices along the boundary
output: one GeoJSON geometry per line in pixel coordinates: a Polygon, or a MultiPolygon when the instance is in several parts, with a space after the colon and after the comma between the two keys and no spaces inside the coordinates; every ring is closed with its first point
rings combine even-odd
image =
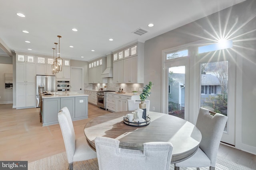
{"type": "Polygon", "coordinates": [[[174,170],[179,167],[199,167],[209,166],[210,170],[215,169],[216,158],[220,140],[228,117],[220,113],[210,115],[208,109],[200,107],[196,127],[201,131],[202,140],[196,153],[190,158],[175,164],[174,170]]]}

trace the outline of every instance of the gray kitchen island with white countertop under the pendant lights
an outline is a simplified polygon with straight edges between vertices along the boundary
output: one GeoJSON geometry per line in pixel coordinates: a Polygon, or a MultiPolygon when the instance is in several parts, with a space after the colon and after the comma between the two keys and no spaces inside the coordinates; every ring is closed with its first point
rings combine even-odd
{"type": "Polygon", "coordinates": [[[58,124],[58,111],[68,107],[72,121],[88,118],[88,95],[76,92],[52,92],[42,94],[42,123],[43,126],[58,124]]]}

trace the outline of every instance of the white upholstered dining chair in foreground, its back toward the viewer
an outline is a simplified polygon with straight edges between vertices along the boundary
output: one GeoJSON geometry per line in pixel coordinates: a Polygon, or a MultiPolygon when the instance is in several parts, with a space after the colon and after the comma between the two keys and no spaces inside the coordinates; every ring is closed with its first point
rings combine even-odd
{"type": "Polygon", "coordinates": [[[96,137],[95,147],[99,170],[170,170],[172,144],[144,143],[144,150],[119,148],[120,141],[96,137]]]}

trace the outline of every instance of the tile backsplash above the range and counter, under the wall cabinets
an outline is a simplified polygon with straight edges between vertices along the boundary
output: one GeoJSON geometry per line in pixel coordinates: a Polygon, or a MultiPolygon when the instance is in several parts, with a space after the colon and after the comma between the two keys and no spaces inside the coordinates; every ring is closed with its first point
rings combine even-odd
{"type": "MultiPolygon", "coordinates": [[[[124,92],[126,93],[131,93],[132,91],[134,91],[134,89],[136,91],[139,92],[139,88],[142,88],[143,90],[143,84],[138,84],[138,83],[134,83],[134,84],[126,84],[126,83],[113,83],[113,78],[108,78],[108,83],[104,84],[104,83],[100,83],[100,84],[88,84],[85,83],[84,84],[84,89],[96,89],[96,87],[99,88],[104,88],[104,86],[106,87],[106,90],[112,90],[112,91],[118,91],[119,88],[121,87],[124,92]]],[[[139,92],[141,93],[141,92],[139,92]]]]}

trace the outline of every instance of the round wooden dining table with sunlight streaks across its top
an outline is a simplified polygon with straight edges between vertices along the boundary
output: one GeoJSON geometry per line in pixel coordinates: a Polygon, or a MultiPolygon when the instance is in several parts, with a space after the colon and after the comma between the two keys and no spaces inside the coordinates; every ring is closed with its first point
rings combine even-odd
{"type": "Polygon", "coordinates": [[[124,116],[132,111],[108,113],[90,120],[84,127],[84,135],[94,150],[97,136],[120,141],[120,148],[143,150],[146,142],[170,142],[173,145],[171,163],[181,162],[192,156],[202,139],[201,132],[192,123],[176,116],[147,111],[150,123],[146,126],[130,126],[124,116]]]}

